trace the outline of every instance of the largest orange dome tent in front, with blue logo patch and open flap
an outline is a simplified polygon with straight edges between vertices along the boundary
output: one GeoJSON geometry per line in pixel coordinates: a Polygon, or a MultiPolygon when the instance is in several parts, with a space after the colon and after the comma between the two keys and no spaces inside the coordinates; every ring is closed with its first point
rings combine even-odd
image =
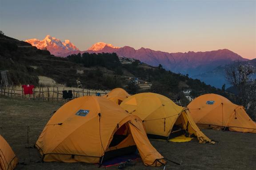
{"type": "Polygon", "coordinates": [[[35,146],[46,162],[101,164],[137,148],[144,165],[165,164],[163,156],[150,144],[139,117],[96,96],[76,98],[60,107],[35,146]]]}

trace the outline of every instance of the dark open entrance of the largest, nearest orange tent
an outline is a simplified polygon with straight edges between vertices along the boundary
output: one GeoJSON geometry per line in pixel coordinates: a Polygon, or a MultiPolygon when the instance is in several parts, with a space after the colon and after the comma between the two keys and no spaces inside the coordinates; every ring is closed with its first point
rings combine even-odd
{"type": "Polygon", "coordinates": [[[136,150],[137,147],[127,122],[119,127],[113,135],[113,139],[104,154],[103,162],[122,155],[132,155],[134,157],[136,150]]]}

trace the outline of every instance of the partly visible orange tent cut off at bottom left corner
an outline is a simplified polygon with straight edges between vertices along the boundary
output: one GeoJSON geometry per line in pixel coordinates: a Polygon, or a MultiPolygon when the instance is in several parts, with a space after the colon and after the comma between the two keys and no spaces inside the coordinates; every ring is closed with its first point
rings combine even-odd
{"type": "Polygon", "coordinates": [[[0,170],[13,170],[18,158],[6,140],[0,135],[0,170]]]}

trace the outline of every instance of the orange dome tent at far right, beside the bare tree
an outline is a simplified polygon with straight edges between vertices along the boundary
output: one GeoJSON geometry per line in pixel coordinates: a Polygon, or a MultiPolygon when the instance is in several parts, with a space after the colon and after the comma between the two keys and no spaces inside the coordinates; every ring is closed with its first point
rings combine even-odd
{"type": "Polygon", "coordinates": [[[244,107],[233,104],[223,96],[204,94],[188,104],[188,109],[199,127],[256,133],[256,123],[244,107]]]}

